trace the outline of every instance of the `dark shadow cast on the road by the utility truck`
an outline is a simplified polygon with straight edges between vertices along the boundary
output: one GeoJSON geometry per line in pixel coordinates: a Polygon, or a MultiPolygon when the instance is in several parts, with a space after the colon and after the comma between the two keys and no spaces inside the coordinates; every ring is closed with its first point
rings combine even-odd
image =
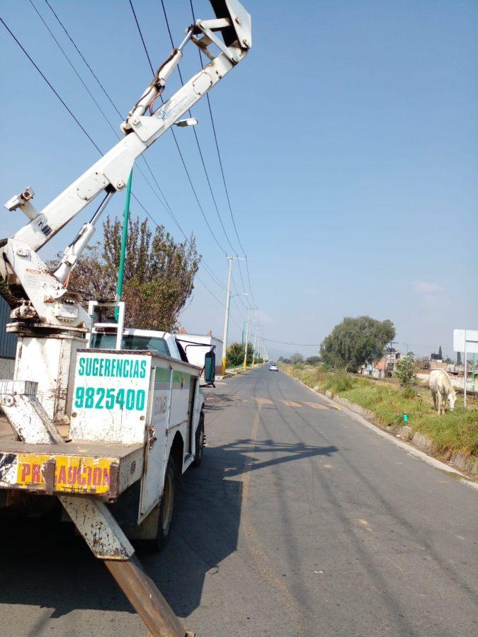
{"type": "MultiPolygon", "coordinates": [[[[206,574],[217,572],[237,549],[243,477],[263,467],[336,451],[334,446],[248,439],[207,447],[203,464],[186,472],[178,485],[166,549],[138,551],[178,616],[188,616],[200,605],[206,574]]],[[[53,607],[48,617],[75,609],[135,612],[101,561],[93,558],[81,538],[72,536],[68,525],[24,518],[2,518],[0,524],[0,604],[53,607]]],[[[39,619],[34,633],[24,634],[38,634],[44,621],[39,619]]]]}

